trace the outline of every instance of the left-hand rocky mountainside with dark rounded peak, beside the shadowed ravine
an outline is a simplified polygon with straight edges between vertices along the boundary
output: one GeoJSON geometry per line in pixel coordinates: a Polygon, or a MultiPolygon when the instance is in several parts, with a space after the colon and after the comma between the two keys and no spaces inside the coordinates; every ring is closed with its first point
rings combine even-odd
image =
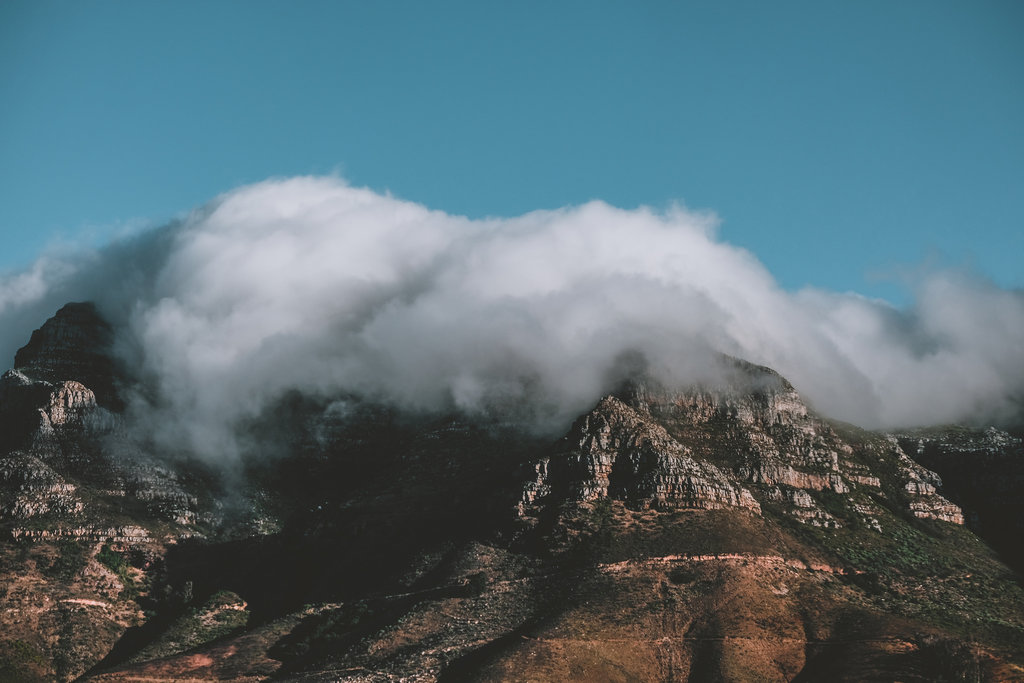
{"type": "Polygon", "coordinates": [[[168,545],[210,527],[206,473],[146,453],[123,424],[111,343],[91,304],[68,304],[0,377],[0,639],[20,653],[0,678],[84,673],[144,621],[168,545]]]}

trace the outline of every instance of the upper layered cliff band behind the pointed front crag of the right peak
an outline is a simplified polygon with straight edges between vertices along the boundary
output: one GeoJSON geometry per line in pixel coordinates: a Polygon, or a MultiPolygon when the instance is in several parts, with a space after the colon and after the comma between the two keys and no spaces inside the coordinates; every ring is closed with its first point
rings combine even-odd
{"type": "MultiPolygon", "coordinates": [[[[881,493],[882,479],[861,457],[859,449],[865,446],[841,437],[777,373],[723,357],[711,374],[714,381],[682,390],[640,375],[620,394],[687,445],[697,460],[717,464],[750,485],[755,496],[781,504],[805,523],[843,525],[814,502],[817,492],[881,493]]],[[[914,516],[964,523],[959,508],[939,494],[938,475],[907,458],[895,439],[879,449],[888,451],[881,458],[896,461],[905,506],[914,516]]],[[[879,523],[873,517],[865,521],[872,527],[879,523]]]]}

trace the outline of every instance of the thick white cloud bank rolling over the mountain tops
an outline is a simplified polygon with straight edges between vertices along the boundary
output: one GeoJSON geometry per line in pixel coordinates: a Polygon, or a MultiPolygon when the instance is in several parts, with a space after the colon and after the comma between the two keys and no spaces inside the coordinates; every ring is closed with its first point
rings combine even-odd
{"type": "Polygon", "coordinates": [[[271,180],[98,251],[0,280],[0,357],[93,300],[150,387],[158,441],[233,458],[233,426],[291,389],[422,410],[529,399],[561,429],[625,350],[671,381],[708,349],[774,368],[865,427],[1018,419],[1024,293],[964,272],[906,309],[783,291],[714,218],[600,202],[469,220],[336,178],[271,180]]]}

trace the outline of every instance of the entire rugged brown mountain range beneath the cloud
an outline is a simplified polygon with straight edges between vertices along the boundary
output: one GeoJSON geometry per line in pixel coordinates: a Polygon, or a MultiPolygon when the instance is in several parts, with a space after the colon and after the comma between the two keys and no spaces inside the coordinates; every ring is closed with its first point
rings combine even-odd
{"type": "Polygon", "coordinates": [[[556,439],[292,392],[218,466],[138,428],[113,339],[69,304],[0,378],[0,680],[1024,680],[1015,435],[720,356],[556,439]]]}

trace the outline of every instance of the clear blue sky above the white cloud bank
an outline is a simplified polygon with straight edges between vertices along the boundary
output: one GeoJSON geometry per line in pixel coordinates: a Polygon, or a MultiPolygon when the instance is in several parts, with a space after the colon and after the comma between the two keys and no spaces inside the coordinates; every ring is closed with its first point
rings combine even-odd
{"type": "Polygon", "coordinates": [[[722,219],[788,289],[1024,287],[1024,3],[0,3],[0,271],[243,183],[722,219]]]}

